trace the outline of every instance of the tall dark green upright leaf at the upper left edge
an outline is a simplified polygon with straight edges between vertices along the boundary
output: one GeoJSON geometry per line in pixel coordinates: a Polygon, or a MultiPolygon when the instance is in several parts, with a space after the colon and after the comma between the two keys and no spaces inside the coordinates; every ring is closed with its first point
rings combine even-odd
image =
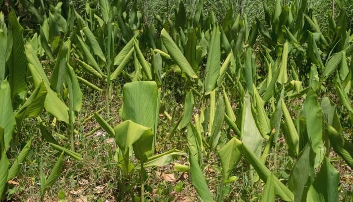
{"type": "Polygon", "coordinates": [[[11,97],[19,94],[20,99],[24,100],[27,93],[27,59],[24,52],[23,27],[17,21],[14,11],[9,14],[8,41],[12,41],[11,55],[7,61],[11,97]]]}

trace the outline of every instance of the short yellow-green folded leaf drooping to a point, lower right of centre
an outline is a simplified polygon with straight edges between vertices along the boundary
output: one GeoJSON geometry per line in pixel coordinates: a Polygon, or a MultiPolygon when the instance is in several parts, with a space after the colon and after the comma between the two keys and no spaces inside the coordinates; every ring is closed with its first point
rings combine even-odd
{"type": "Polygon", "coordinates": [[[242,142],[233,137],[218,151],[223,168],[223,177],[228,179],[242,157],[242,142]]]}

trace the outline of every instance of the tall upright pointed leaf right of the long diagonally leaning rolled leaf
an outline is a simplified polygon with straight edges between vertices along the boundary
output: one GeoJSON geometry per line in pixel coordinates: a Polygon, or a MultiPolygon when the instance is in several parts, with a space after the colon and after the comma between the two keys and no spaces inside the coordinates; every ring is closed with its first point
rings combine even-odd
{"type": "Polygon", "coordinates": [[[209,94],[217,84],[220,70],[220,31],[214,26],[209,46],[209,52],[205,70],[205,90],[209,94]]]}

